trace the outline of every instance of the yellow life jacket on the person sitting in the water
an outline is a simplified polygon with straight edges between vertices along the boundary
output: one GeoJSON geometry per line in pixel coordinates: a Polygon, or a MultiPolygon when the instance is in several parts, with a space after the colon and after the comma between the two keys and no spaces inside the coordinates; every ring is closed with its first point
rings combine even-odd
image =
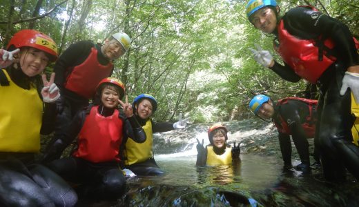
{"type": "Polygon", "coordinates": [[[219,166],[219,165],[231,165],[232,164],[232,148],[231,146],[226,147],[226,150],[222,155],[215,154],[213,146],[208,145],[207,147],[207,166],[219,166]]]}

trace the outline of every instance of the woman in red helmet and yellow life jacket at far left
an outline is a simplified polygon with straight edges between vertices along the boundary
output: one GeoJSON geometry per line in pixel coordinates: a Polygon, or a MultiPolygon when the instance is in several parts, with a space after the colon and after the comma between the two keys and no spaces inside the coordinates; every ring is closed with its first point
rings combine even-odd
{"type": "Polygon", "coordinates": [[[35,164],[40,134],[52,132],[55,123],[55,74],[50,81],[42,75],[41,82],[41,73],[57,58],[57,46],[46,34],[21,30],[0,53],[0,204],[74,206],[75,191],[35,164]]]}

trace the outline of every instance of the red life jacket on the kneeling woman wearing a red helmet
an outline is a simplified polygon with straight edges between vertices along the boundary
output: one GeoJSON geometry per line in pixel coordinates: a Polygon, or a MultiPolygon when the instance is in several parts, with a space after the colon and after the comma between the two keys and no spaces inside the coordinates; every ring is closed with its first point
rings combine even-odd
{"type": "Polygon", "coordinates": [[[123,121],[119,111],[104,117],[97,112],[99,106],[93,106],[86,116],[78,137],[78,148],[73,153],[95,163],[104,161],[120,161],[119,146],[122,143],[123,121]]]}

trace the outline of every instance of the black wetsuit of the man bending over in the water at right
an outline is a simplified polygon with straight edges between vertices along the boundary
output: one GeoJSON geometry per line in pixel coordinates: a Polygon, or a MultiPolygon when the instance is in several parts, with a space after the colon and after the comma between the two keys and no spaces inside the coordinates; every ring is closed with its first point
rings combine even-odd
{"type": "MultiPolygon", "coordinates": [[[[298,100],[287,100],[286,103],[275,104],[273,121],[276,126],[281,127],[282,120],[287,121],[287,126],[289,126],[291,132],[280,132],[278,130],[278,139],[280,144],[280,151],[282,152],[282,158],[284,161],[284,166],[291,166],[291,139],[295,148],[297,149],[300,161],[302,164],[309,167],[309,143],[306,133],[302,127],[302,124],[307,122],[307,117],[309,117],[309,105],[298,100]]],[[[314,120],[314,119],[313,119],[314,120]]]]}

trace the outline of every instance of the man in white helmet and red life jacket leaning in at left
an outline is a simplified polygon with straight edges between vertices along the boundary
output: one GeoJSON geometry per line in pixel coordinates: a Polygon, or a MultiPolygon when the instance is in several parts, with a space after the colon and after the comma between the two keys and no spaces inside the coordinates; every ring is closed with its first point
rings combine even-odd
{"type": "MultiPolygon", "coordinates": [[[[103,44],[79,41],[70,45],[57,59],[55,83],[61,92],[52,141],[64,137],[72,117],[88,106],[97,84],[113,73],[113,61],[130,49],[131,39],[124,32],[112,34],[103,44]]],[[[51,141],[51,142],[52,142],[51,141]]]]}

